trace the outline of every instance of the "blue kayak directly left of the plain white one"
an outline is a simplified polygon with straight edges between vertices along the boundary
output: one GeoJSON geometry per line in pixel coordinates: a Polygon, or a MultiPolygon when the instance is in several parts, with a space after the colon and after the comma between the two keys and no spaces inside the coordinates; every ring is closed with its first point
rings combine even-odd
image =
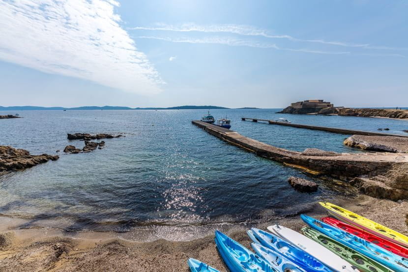
{"type": "Polygon", "coordinates": [[[290,242],[260,229],[252,228],[251,231],[253,236],[262,245],[288,258],[303,270],[307,272],[332,272],[332,270],[321,263],[321,261],[307,252],[295,247],[290,242]]]}

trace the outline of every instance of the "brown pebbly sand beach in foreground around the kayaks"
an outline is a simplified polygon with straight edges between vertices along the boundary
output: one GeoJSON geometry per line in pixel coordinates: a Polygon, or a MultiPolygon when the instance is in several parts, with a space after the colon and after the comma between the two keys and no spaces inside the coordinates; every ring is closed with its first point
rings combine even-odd
{"type": "MultiPolygon", "coordinates": [[[[408,234],[405,216],[408,202],[379,200],[368,196],[336,203],[408,234]]],[[[326,215],[316,204],[308,215],[326,215]]],[[[48,229],[13,229],[21,219],[0,217],[1,272],[188,272],[187,259],[202,260],[220,272],[227,272],[218,255],[213,235],[187,241],[156,240],[137,242],[113,233],[68,233],[48,229]]],[[[299,231],[304,225],[299,216],[265,222],[257,227],[279,223],[299,231]]],[[[249,247],[244,228],[227,231],[233,239],[249,247]]]]}

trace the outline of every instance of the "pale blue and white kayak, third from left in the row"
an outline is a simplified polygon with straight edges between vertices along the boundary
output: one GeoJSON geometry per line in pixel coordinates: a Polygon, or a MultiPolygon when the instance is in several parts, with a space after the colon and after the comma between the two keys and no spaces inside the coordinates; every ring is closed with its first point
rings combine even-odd
{"type": "Polygon", "coordinates": [[[251,246],[258,256],[261,256],[261,258],[267,261],[271,266],[275,267],[279,272],[305,272],[290,260],[282,257],[272,249],[267,248],[262,244],[252,242],[251,246]]]}

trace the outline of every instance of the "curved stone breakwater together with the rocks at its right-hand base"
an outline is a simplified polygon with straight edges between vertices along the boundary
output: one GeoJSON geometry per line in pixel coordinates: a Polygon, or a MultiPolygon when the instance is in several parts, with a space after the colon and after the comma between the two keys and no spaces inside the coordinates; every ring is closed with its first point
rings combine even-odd
{"type": "Polygon", "coordinates": [[[345,181],[354,181],[355,178],[366,179],[352,183],[362,193],[391,200],[408,199],[408,167],[406,167],[408,154],[406,153],[330,152],[328,154],[318,150],[302,153],[267,145],[235,131],[202,121],[192,121],[192,123],[228,143],[286,165],[300,166],[300,168],[345,181]],[[383,177],[382,182],[379,179],[373,180],[379,176],[383,177]],[[365,186],[369,181],[379,182],[372,182],[370,186],[365,186]],[[373,186],[377,189],[373,189],[373,186]]]}

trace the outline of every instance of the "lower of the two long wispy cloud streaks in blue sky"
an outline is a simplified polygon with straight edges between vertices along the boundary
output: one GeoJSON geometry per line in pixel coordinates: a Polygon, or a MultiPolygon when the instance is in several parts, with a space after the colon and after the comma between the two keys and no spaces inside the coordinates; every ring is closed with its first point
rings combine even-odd
{"type": "Polygon", "coordinates": [[[271,43],[262,43],[252,40],[245,39],[235,39],[231,37],[204,37],[204,38],[171,38],[171,37],[160,37],[160,36],[137,36],[138,39],[155,39],[163,40],[168,42],[180,42],[180,43],[207,43],[207,44],[223,44],[229,46],[247,46],[247,47],[256,47],[256,48],[273,48],[276,50],[283,51],[294,51],[294,52],[305,52],[313,54],[325,54],[325,55],[346,55],[350,52],[338,52],[338,51],[319,51],[319,50],[310,50],[310,49],[295,49],[295,48],[284,48],[279,47],[276,44],[271,43]]]}

